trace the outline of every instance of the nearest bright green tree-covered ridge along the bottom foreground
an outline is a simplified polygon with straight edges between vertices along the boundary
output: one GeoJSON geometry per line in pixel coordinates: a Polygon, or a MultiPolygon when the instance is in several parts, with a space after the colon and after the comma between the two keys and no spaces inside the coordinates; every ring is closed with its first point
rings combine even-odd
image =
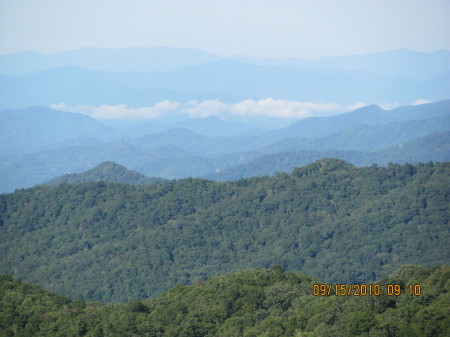
{"type": "Polygon", "coordinates": [[[156,298],[99,305],[0,276],[1,336],[396,336],[450,334],[450,268],[403,266],[379,282],[420,295],[313,296],[306,276],[247,269],[156,298]]]}

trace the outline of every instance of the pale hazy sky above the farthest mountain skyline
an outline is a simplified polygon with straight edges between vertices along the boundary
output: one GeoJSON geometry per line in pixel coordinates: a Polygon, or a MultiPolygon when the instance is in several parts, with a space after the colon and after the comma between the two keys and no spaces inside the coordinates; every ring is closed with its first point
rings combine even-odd
{"type": "Polygon", "coordinates": [[[221,56],[450,49],[450,0],[0,0],[0,53],[199,48],[221,56]]]}

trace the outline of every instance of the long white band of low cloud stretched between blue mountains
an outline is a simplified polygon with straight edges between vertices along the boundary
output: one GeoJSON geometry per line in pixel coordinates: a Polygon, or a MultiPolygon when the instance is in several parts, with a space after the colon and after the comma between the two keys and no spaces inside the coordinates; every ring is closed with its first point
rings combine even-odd
{"type": "Polygon", "coordinates": [[[311,116],[324,116],[342,112],[338,104],[319,104],[273,98],[253,100],[247,99],[239,103],[227,104],[219,100],[197,101],[186,103],[165,100],[150,107],[131,108],[126,105],[77,105],[64,103],[51,106],[56,110],[82,113],[96,119],[155,119],[169,113],[186,115],[190,118],[205,118],[232,114],[242,117],[278,117],[301,119],[311,116]]]}

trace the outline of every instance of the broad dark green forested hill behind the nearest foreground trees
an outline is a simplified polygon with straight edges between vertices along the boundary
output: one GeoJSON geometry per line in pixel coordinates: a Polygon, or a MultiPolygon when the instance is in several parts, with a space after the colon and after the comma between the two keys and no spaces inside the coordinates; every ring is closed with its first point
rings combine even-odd
{"type": "Polygon", "coordinates": [[[450,261],[449,191],[448,162],[335,159],[227,183],[38,186],[0,195],[0,272],[103,302],[274,264],[326,282],[379,280],[450,261]]]}

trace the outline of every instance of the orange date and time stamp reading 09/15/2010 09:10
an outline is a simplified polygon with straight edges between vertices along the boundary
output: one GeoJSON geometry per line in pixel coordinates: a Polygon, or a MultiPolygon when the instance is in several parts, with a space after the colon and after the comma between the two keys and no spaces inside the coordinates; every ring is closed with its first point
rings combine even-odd
{"type": "Polygon", "coordinates": [[[314,296],[419,296],[422,294],[420,284],[403,286],[400,284],[314,284],[314,296]]]}

